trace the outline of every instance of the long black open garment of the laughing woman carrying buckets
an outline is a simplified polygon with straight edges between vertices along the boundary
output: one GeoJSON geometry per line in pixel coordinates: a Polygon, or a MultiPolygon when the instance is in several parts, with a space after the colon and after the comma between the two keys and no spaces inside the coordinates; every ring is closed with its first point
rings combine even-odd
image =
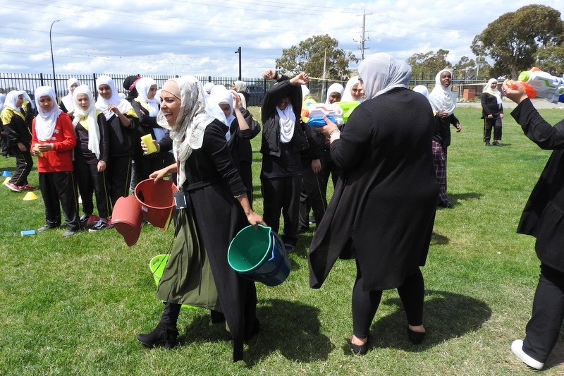
{"type": "MultiPolygon", "coordinates": [[[[229,243],[249,223],[235,199],[246,188],[231,159],[222,123],[216,120],[207,126],[202,147],[190,154],[185,173],[183,190],[192,208],[197,236],[212,268],[221,310],[233,336],[233,361],[241,360],[243,340],[251,336],[257,324],[257,290],[255,282],[240,277],[227,261],[229,243]]],[[[166,269],[163,278],[169,278],[165,274],[166,269]]]]}

